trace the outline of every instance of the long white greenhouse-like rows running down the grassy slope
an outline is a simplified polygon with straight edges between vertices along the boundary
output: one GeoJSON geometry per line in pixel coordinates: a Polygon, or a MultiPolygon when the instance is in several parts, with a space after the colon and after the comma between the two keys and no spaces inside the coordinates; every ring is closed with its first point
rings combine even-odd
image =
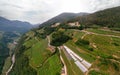
{"type": "Polygon", "coordinates": [[[64,45],[63,47],[65,48],[66,52],[68,52],[70,56],[73,58],[74,63],[80,68],[80,70],[84,73],[87,72],[92,64],[90,64],[89,62],[87,62],[86,60],[78,56],[75,52],[73,52],[67,46],[64,45]]]}

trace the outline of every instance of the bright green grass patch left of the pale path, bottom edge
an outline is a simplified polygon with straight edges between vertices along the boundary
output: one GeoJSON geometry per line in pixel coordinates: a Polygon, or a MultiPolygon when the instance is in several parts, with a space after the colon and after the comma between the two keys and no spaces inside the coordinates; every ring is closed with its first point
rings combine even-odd
{"type": "Polygon", "coordinates": [[[46,62],[38,69],[38,75],[60,75],[62,63],[59,54],[49,57],[46,62]]]}

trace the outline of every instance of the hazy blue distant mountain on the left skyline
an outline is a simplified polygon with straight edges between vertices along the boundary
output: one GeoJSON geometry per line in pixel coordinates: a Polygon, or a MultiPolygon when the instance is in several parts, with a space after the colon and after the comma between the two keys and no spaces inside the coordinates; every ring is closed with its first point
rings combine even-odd
{"type": "Polygon", "coordinates": [[[28,22],[22,22],[18,20],[8,20],[6,18],[0,17],[0,30],[11,32],[11,31],[17,31],[17,32],[26,32],[29,29],[31,29],[33,26],[32,24],[28,22]]]}

